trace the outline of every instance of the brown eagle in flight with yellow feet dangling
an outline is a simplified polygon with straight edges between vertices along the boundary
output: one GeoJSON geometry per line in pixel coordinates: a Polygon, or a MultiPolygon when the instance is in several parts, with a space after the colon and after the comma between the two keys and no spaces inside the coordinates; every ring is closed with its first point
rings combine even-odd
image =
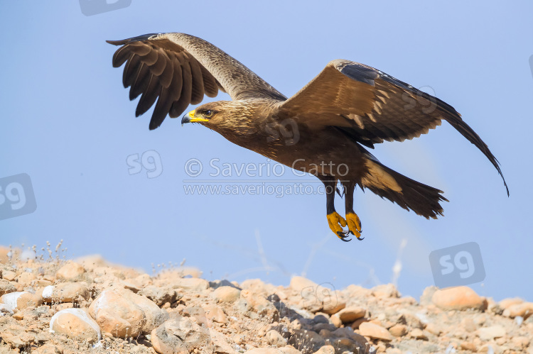
{"type": "Polygon", "coordinates": [[[419,137],[447,121],[494,165],[487,144],[446,102],[389,74],[350,60],[332,60],[305,87],[287,98],[215,45],[185,33],[151,33],[125,40],[112,64],[125,64],[122,81],[129,99],[141,98],[135,115],[154,106],[149,128],[166,116],[178,118],[204,96],[226,92],[185,114],[242,148],[315,175],[324,184],[328,225],[340,240],[361,237],[353,209],[355,187],[370,189],[426,219],[443,216],[443,192],[383,165],[367,148],[419,137]],[[342,194],[339,187],[342,186],[342,194]],[[345,217],[335,211],[335,192],[345,196],[345,217]],[[345,230],[344,228],[347,228],[345,230]]]}

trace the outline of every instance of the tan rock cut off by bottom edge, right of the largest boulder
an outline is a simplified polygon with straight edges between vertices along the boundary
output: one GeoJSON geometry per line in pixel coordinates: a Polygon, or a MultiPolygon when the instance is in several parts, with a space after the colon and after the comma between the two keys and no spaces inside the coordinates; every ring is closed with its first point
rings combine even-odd
{"type": "Polygon", "coordinates": [[[157,353],[193,353],[195,349],[201,353],[209,353],[209,331],[186,317],[169,319],[154,328],[150,337],[157,353]]]}

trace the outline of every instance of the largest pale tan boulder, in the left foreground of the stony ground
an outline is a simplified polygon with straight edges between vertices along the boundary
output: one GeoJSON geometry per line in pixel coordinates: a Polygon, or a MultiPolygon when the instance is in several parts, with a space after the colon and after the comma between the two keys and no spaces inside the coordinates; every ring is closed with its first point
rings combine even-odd
{"type": "Polygon", "coordinates": [[[89,311],[102,331],[120,338],[150,333],[168,319],[168,313],[150,299],[127,289],[104,290],[89,311]]]}

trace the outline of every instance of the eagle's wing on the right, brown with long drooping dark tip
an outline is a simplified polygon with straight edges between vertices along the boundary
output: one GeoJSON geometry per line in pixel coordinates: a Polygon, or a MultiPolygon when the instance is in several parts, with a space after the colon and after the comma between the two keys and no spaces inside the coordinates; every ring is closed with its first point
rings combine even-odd
{"type": "Polygon", "coordinates": [[[487,144],[452,106],[367,65],[333,60],[279,109],[281,116],[311,127],[338,126],[370,147],[419,137],[445,120],[485,154],[503,179],[487,144]]]}

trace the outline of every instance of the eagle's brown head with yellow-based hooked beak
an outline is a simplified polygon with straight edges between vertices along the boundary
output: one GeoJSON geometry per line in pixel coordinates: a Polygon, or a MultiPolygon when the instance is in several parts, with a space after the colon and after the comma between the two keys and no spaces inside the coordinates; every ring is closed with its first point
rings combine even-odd
{"type": "Polygon", "coordinates": [[[252,104],[239,101],[216,101],[203,104],[181,119],[184,123],[200,123],[219,133],[239,130],[246,133],[253,129],[256,110],[252,104]]]}

